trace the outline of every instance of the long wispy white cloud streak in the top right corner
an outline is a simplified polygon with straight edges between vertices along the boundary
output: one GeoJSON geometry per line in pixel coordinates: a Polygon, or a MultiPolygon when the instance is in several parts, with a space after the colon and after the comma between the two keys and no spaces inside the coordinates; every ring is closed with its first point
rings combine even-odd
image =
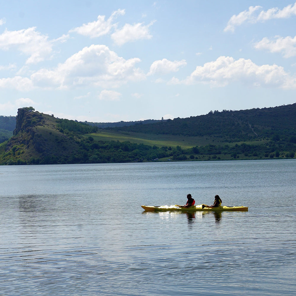
{"type": "Polygon", "coordinates": [[[244,22],[257,23],[271,19],[289,18],[293,15],[296,15],[296,2],[294,5],[289,4],[283,9],[273,7],[267,11],[262,10],[261,6],[250,6],[248,10],[233,15],[224,28],[224,32],[234,32],[235,27],[242,25],[244,22]]]}

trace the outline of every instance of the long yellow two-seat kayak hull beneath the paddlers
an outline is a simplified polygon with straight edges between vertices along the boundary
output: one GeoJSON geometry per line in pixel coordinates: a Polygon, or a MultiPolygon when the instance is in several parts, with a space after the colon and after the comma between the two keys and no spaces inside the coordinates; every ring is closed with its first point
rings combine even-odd
{"type": "Polygon", "coordinates": [[[248,207],[243,206],[234,206],[234,207],[227,207],[227,206],[218,206],[218,207],[202,207],[203,205],[193,205],[192,207],[180,207],[178,205],[162,205],[159,207],[155,206],[147,206],[141,205],[141,207],[148,212],[154,211],[181,211],[181,212],[188,212],[188,211],[213,211],[213,212],[223,212],[223,211],[248,211],[248,207]]]}

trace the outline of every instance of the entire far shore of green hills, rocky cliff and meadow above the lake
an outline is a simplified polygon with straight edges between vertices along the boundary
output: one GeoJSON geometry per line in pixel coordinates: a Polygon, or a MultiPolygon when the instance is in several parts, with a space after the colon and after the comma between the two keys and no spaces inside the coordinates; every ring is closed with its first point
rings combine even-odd
{"type": "Polygon", "coordinates": [[[296,104],[107,129],[27,107],[13,134],[0,144],[1,165],[293,158],[296,104]]]}

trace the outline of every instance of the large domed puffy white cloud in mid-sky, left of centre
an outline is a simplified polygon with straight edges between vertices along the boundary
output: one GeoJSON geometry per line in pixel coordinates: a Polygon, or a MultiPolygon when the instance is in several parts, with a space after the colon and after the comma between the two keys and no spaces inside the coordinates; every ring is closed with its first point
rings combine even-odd
{"type": "Polygon", "coordinates": [[[41,69],[31,75],[40,87],[71,88],[79,86],[119,87],[128,81],[145,79],[136,68],[139,58],[123,59],[105,45],[91,45],[73,54],[55,69],[41,69]]]}

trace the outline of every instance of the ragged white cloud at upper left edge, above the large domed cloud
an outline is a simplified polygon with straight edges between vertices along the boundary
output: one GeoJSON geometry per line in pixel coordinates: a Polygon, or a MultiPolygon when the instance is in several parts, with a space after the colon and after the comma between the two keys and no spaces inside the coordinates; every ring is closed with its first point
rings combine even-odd
{"type": "Polygon", "coordinates": [[[52,53],[53,42],[65,40],[65,38],[67,38],[67,35],[49,41],[48,36],[36,31],[36,27],[18,31],[5,30],[0,35],[0,49],[17,49],[29,56],[26,64],[36,64],[52,53]]]}

